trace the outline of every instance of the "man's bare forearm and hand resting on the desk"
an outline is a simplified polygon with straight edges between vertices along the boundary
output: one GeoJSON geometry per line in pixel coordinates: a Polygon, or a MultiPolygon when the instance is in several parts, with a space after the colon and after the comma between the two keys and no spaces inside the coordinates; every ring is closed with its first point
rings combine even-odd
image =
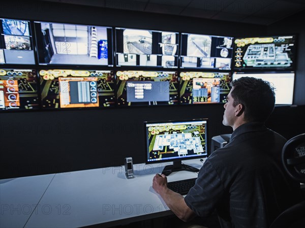
{"type": "Polygon", "coordinates": [[[160,194],[169,209],[182,221],[189,221],[196,216],[186,204],[184,197],[167,187],[167,178],[164,174],[156,174],[153,180],[153,188],[160,194]]]}

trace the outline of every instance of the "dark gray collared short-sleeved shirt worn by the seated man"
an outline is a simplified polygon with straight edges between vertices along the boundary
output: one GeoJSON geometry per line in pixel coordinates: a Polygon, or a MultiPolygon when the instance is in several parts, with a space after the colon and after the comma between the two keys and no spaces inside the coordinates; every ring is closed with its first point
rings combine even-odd
{"type": "Polygon", "coordinates": [[[223,228],[269,227],[300,201],[300,185],[282,165],[285,143],[263,123],[242,124],[224,148],[206,159],[186,204],[201,217],[217,210],[223,228]]]}

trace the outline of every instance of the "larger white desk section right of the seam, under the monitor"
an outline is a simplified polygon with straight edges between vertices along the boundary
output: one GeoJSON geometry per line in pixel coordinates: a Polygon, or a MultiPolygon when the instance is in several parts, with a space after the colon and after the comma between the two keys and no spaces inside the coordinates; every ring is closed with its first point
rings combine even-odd
{"type": "MultiPolygon", "coordinates": [[[[202,166],[199,159],[184,163],[202,166]]],[[[107,227],[172,214],[151,187],[165,165],[136,164],[133,179],[126,178],[123,167],[56,174],[39,203],[45,211],[33,213],[24,227],[107,227]]],[[[168,181],[194,177],[197,173],[180,171],[168,181]]]]}

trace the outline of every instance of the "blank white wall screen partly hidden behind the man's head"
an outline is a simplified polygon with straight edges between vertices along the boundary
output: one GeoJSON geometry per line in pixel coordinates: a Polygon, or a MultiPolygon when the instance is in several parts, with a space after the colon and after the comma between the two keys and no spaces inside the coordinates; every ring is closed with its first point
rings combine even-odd
{"type": "Polygon", "coordinates": [[[233,80],[241,77],[260,78],[271,83],[275,87],[276,105],[292,105],[294,72],[264,72],[245,73],[234,72],[233,80]]]}

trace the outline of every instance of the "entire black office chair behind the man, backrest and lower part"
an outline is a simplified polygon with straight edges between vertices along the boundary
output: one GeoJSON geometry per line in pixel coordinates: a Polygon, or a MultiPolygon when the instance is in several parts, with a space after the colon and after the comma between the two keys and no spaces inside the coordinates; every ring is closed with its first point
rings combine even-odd
{"type": "MultiPolygon", "coordinates": [[[[287,173],[297,182],[305,183],[305,134],[288,140],[282,150],[282,161],[287,173]]],[[[281,213],[269,228],[305,227],[305,201],[281,213]]]]}

